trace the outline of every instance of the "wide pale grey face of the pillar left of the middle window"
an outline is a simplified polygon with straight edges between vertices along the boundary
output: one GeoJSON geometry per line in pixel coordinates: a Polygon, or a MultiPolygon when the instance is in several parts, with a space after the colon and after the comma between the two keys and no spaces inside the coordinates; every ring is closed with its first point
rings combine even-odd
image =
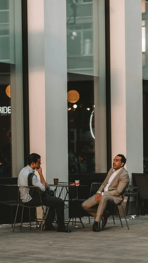
{"type": "Polygon", "coordinates": [[[68,181],[66,1],[44,0],[47,182],[68,181]]]}

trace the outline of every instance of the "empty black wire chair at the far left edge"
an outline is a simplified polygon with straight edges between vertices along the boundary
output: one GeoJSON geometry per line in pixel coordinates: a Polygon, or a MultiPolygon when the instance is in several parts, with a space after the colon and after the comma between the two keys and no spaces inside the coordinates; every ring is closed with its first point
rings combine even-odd
{"type": "Polygon", "coordinates": [[[3,204],[11,206],[11,225],[13,227],[12,206],[18,205],[18,186],[17,185],[0,185],[0,201],[3,204]]]}

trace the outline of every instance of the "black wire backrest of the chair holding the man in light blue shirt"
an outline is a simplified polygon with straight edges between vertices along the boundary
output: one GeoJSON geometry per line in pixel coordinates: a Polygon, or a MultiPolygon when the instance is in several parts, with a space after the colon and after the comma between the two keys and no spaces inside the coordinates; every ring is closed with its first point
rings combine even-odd
{"type": "Polygon", "coordinates": [[[36,186],[19,186],[19,204],[26,207],[42,206],[41,194],[39,187],[36,186]]]}

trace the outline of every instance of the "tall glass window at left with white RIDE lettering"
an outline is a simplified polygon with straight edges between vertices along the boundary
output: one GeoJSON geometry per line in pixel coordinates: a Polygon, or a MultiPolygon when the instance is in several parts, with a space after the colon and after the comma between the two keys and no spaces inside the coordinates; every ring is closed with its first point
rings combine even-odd
{"type": "Polygon", "coordinates": [[[0,0],[0,177],[23,165],[21,1],[0,0]]]}

